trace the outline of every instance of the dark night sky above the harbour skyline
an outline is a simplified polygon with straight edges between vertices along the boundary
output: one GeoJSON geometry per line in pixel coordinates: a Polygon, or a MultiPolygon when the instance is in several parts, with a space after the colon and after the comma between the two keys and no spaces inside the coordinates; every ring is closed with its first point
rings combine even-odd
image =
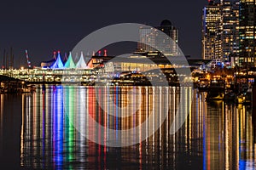
{"type": "MultiPolygon", "coordinates": [[[[3,48],[12,46],[15,65],[24,65],[28,48],[32,65],[51,59],[53,50],[70,51],[102,26],[135,22],[159,26],[171,20],[179,29],[184,54],[201,57],[201,10],[207,0],[44,0],[0,3],[0,64],[3,48]]],[[[121,46],[117,46],[121,47],[121,46]]],[[[108,54],[122,53],[108,50],[108,54]]]]}

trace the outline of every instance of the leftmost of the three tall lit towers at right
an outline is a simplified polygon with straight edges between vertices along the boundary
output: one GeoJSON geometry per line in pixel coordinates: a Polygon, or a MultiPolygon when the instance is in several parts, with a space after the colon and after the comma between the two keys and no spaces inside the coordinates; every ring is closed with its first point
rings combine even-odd
{"type": "Polygon", "coordinates": [[[209,1],[207,7],[203,8],[202,22],[203,59],[222,59],[223,17],[220,3],[209,1]]]}

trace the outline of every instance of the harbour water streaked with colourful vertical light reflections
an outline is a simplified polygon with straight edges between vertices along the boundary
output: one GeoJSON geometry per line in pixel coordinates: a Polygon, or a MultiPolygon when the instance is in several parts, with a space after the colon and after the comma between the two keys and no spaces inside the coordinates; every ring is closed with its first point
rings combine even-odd
{"type": "Polygon", "coordinates": [[[254,169],[252,108],[206,103],[206,94],[192,90],[47,86],[35,94],[0,94],[0,167],[254,169]],[[169,134],[175,114],[182,116],[186,111],[190,114],[183,127],[175,135],[169,134]],[[105,128],[88,122],[84,113],[105,128]],[[118,118],[122,114],[131,115],[118,118]],[[157,128],[165,114],[166,121],[157,128]],[[108,144],[108,129],[131,129],[150,115],[153,120],[146,129],[116,137],[125,143],[142,139],[148,129],[156,131],[139,144],[113,148],[84,138],[86,133],[108,144]]]}

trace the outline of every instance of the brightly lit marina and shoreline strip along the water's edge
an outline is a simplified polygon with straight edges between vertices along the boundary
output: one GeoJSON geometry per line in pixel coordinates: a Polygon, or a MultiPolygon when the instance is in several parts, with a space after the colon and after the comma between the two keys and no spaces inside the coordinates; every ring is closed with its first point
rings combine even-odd
{"type": "MultiPolygon", "coordinates": [[[[168,66],[169,67],[169,66],[168,66]]],[[[169,67],[148,71],[106,71],[106,67],[87,69],[11,69],[0,70],[0,93],[30,93],[42,84],[82,86],[172,86],[194,87],[207,92],[207,100],[224,100],[250,104],[253,99],[254,72],[247,77],[243,72],[232,74],[198,71],[190,67],[190,75],[180,75],[182,67],[169,67]],[[200,74],[198,74],[200,72],[200,74]],[[10,88],[11,87],[11,88],[10,88]]]]}

